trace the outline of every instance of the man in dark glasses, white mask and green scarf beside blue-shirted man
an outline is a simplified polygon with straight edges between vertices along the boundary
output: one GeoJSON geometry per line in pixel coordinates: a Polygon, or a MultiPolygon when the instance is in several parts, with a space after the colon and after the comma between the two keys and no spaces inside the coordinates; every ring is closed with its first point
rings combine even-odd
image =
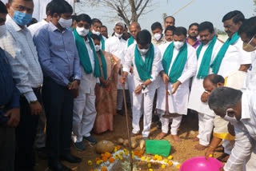
{"type": "Polygon", "coordinates": [[[96,144],[97,140],[90,135],[96,117],[95,85],[102,77],[100,64],[94,47],[94,41],[89,36],[91,19],[87,14],[80,14],[76,18],[77,26],[74,29],[75,43],[80,58],[82,71],[78,97],[74,99],[73,141],[78,150],[85,150],[83,137],[96,144]]]}

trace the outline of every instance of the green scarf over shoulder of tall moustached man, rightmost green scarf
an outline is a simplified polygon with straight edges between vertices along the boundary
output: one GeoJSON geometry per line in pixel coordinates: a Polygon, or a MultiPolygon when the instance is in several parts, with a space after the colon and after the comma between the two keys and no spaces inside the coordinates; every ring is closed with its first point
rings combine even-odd
{"type": "Polygon", "coordinates": [[[218,70],[222,64],[222,59],[226,54],[226,50],[229,48],[230,45],[236,42],[238,38],[240,38],[240,36],[238,35],[238,32],[236,32],[232,38],[228,38],[226,42],[222,45],[222,48],[218,51],[218,54],[214,59],[214,62],[210,65],[210,67],[213,69],[214,74],[218,74],[218,70]]]}

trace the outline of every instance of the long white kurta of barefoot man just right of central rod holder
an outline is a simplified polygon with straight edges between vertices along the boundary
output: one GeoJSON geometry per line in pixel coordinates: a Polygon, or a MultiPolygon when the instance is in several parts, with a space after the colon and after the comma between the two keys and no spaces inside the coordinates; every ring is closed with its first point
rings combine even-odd
{"type": "MultiPolygon", "coordinates": [[[[161,51],[162,54],[164,54],[164,51],[163,50],[161,51]]],[[[171,67],[174,63],[174,60],[175,58],[177,58],[178,52],[179,50],[174,48],[174,54],[173,54],[172,61],[170,63],[169,74],[170,74],[171,67]]],[[[184,114],[184,115],[186,115],[187,113],[187,105],[188,105],[188,99],[190,94],[190,89],[189,89],[190,78],[194,76],[197,70],[196,50],[194,50],[192,46],[187,44],[187,53],[188,54],[187,54],[186,65],[184,67],[181,77],[178,78],[178,81],[182,82],[182,84],[179,85],[176,93],[170,94],[170,96],[168,96],[170,113],[178,113],[178,114],[184,114]]],[[[170,93],[172,92],[171,86],[172,86],[172,83],[169,82],[168,89],[170,93]]],[[[163,111],[166,110],[166,84],[162,81],[162,79],[160,81],[160,88],[158,89],[157,109],[161,109],[163,111]]]]}

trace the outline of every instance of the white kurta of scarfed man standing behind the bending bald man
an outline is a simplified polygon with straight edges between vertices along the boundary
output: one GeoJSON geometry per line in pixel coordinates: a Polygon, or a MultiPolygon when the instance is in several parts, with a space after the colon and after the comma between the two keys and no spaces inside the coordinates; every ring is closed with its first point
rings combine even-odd
{"type": "MultiPolygon", "coordinates": [[[[204,103],[201,101],[202,93],[205,91],[205,89],[203,88],[203,85],[202,85],[203,79],[196,78],[198,75],[198,70],[201,66],[202,57],[205,54],[206,49],[209,46],[209,43],[207,45],[202,46],[202,50],[201,50],[201,53],[198,58],[198,68],[197,68],[197,73],[195,74],[193,82],[192,82],[188,108],[194,109],[194,110],[198,111],[198,113],[205,113],[207,115],[214,117],[214,111],[209,108],[207,103],[204,103]]],[[[222,45],[223,45],[222,42],[219,42],[218,40],[216,41],[216,43],[214,45],[214,50],[213,50],[213,53],[211,56],[210,63],[214,62],[214,58],[218,54],[218,51],[221,49],[222,45]]],[[[213,74],[211,68],[209,69],[208,74],[213,74]]]]}

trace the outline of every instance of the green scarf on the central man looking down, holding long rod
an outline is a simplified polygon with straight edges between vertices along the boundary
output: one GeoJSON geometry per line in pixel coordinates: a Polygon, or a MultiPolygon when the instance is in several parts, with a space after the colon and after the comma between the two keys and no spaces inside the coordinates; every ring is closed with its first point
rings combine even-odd
{"type": "Polygon", "coordinates": [[[150,48],[146,53],[145,56],[145,62],[142,60],[142,56],[138,51],[138,45],[136,45],[135,50],[134,50],[134,61],[136,68],[138,70],[138,76],[139,78],[143,81],[146,82],[146,80],[152,78],[151,77],[151,69],[152,69],[152,64],[154,61],[154,46],[152,43],[150,43],[150,48]]]}

